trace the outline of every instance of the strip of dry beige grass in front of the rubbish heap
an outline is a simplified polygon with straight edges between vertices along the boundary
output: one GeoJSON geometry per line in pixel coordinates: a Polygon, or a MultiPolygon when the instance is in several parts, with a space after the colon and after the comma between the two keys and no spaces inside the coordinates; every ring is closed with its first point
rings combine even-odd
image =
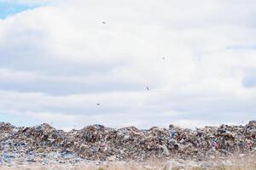
{"type": "Polygon", "coordinates": [[[95,165],[93,163],[77,165],[13,165],[2,166],[4,170],[256,170],[256,159],[254,156],[244,158],[230,158],[228,161],[147,161],[138,162],[115,162],[95,165]]]}

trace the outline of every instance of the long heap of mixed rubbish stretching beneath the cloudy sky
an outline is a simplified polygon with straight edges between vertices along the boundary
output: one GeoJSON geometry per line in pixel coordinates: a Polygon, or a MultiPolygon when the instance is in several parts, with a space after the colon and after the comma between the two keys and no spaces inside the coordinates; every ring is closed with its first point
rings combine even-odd
{"type": "Polygon", "coordinates": [[[212,159],[256,153],[256,121],[191,130],[92,125],[70,132],[49,124],[14,127],[0,123],[0,164],[80,161],[144,161],[149,158],[212,159]]]}

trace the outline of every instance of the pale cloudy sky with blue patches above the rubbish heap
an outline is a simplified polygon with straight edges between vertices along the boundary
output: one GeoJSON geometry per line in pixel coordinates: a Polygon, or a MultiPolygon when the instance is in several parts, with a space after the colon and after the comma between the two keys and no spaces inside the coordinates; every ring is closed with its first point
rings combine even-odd
{"type": "Polygon", "coordinates": [[[70,129],[256,119],[255,8],[255,0],[0,0],[0,121],[70,129]]]}

